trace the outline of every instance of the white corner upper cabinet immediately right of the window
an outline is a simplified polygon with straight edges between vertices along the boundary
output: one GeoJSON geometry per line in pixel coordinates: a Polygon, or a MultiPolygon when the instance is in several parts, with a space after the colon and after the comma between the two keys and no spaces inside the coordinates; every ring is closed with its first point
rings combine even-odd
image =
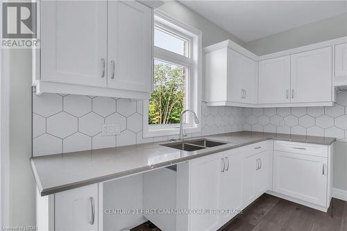
{"type": "Polygon", "coordinates": [[[257,62],[228,47],[206,54],[206,100],[210,105],[257,103],[257,62]]]}

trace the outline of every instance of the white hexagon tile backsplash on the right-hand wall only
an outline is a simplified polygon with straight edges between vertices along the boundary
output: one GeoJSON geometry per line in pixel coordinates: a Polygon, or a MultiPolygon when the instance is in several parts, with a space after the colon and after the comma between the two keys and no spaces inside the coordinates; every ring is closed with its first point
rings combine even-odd
{"type": "Polygon", "coordinates": [[[347,142],[347,91],[333,107],[244,108],[244,130],[337,137],[347,142]]]}

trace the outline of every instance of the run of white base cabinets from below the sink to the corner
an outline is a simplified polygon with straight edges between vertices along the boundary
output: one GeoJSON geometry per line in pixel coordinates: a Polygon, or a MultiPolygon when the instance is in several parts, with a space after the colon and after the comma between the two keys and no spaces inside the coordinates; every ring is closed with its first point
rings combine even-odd
{"type": "Polygon", "coordinates": [[[189,230],[221,228],[269,189],[271,164],[267,144],[261,142],[192,160],[190,208],[214,211],[191,214],[189,230]],[[247,157],[249,153],[254,155],[247,157]]]}

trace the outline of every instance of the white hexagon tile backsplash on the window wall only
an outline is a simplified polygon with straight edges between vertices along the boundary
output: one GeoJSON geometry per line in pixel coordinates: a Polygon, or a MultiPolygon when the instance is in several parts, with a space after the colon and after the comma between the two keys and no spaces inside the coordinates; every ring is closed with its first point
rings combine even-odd
{"type": "MultiPolygon", "coordinates": [[[[243,129],[242,108],[202,106],[201,132],[190,137],[243,129]]],[[[165,141],[177,136],[142,137],[142,101],[33,93],[33,155],[165,141]],[[103,123],[119,123],[121,134],[101,136],[103,123]]]]}

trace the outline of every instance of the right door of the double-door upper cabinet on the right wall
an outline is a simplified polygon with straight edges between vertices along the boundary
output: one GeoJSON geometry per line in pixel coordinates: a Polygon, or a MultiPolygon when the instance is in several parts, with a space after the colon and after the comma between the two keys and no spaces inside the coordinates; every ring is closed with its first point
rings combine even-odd
{"type": "Polygon", "coordinates": [[[291,55],[291,103],[332,101],[332,47],[291,55]]]}

